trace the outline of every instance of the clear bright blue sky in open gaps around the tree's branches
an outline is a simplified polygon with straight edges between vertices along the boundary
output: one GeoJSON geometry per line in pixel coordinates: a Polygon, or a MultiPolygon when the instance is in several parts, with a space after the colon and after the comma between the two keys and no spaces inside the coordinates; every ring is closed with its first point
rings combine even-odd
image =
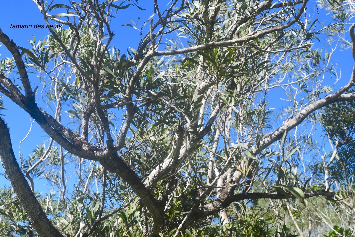
{"type": "MultiPolygon", "coordinates": [[[[169,2],[164,0],[165,2],[169,2]]],[[[164,2],[161,1],[161,2],[164,2]]],[[[54,1],[54,3],[63,3],[66,4],[66,0],[62,1],[54,1]]],[[[310,8],[313,7],[312,2],[310,2],[310,8]]],[[[137,18],[141,17],[139,25],[144,23],[144,20],[149,18],[149,16],[154,12],[153,10],[153,1],[139,1],[139,5],[143,8],[146,8],[146,11],[139,10],[136,6],[130,6],[128,9],[119,10],[115,15],[115,18],[112,20],[112,28],[114,33],[116,34],[114,37],[114,41],[112,43],[113,46],[119,48],[122,53],[125,52],[126,48],[132,47],[137,48],[140,33],[137,29],[133,29],[131,27],[122,26],[122,24],[132,24],[132,21],[137,22],[137,18]]],[[[59,13],[54,12],[54,13],[59,13]]],[[[31,24],[34,26],[35,24],[45,24],[43,20],[42,14],[39,12],[37,6],[31,0],[12,0],[12,1],[2,1],[1,9],[0,9],[1,21],[0,28],[4,33],[6,33],[10,39],[13,39],[14,42],[21,47],[30,48],[28,40],[32,39],[32,35],[34,34],[36,39],[43,39],[45,36],[49,34],[48,29],[11,29],[10,24],[31,24]]],[[[322,21],[326,19],[328,16],[320,11],[319,19],[322,21]]],[[[139,28],[139,27],[138,27],[139,28]]],[[[144,30],[146,32],[146,30],[144,30]]],[[[321,42],[316,45],[319,47],[327,47],[327,43],[325,39],[320,37],[321,42]]],[[[0,47],[1,57],[10,57],[10,53],[7,49],[2,45],[0,47]]],[[[338,86],[345,85],[351,75],[351,70],[353,67],[354,60],[351,56],[351,51],[348,50],[346,52],[341,52],[337,50],[337,52],[333,55],[333,60],[335,60],[342,70],[342,80],[338,83],[338,86]]],[[[35,74],[29,74],[33,85],[37,84],[37,77],[35,74]]],[[[329,84],[333,84],[330,82],[329,84]]],[[[271,95],[270,95],[271,96],[271,95]]],[[[277,96],[275,96],[277,97],[277,96]]],[[[274,107],[278,112],[280,108],[280,102],[278,98],[275,98],[273,101],[274,104],[271,104],[270,107],[274,107]]],[[[5,108],[8,110],[3,111],[2,113],[5,115],[4,120],[8,123],[12,138],[12,144],[14,148],[14,152],[16,157],[18,158],[18,143],[26,136],[28,133],[28,129],[31,126],[31,120],[29,115],[23,111],[16,104],[11,102],[9,99],[4,98],[5,108]]],[[[64,108],[66,110],[66,108],[64,108]]],[[[28,156],[29,153],[32,153],[32,150],[36,145],[43,144],[44,140],[48,140],[47,135],[42,131],[39,126],[34,123],[32,132],[29,134],[28,138],[23,142],[21,146],[21,153],[24,157],[28,156]]],[[[2,167],[0,166],[0,173],[4,173],[2,167]]],[[[9,182],[6,179],[0,176],[0,188],[2,185],[9,185],[9,182]]],[[[38,186],[37,186],[38,187],[38,186]]]]}

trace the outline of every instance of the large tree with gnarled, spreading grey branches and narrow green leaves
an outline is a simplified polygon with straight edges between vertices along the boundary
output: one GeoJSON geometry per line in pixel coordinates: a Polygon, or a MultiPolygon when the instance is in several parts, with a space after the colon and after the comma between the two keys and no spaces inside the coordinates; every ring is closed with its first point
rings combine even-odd
{"type": "Polygon", "coordinates": [[[49,28],[44,41],[34,37],[31,49],[0,29],[13,55],[1,61],[0,92],[50,136],[19,166],[0,119],[1,162],[16,192],[11,206],[3,205],[20,202],[24,226],[31,224],[23,230],[2,214],[19,226],[12,233],[294,236],[278,219],[282,209],[266,214],[258,200],[286,205],[294,219],[291,205],[337,199],[329,177],[335,155],[320,155],[312,134],[317,111],[354,101],[355,76],[337,91],[324,86],[337,71],[315,40],[324,34],[348,46],[340,35],[351,20],[347,2],[321,3],[333,13],[326,24],[312,17],[307,0],[174,0],[166,9],[153,0],[151,18],[127,24],[141,41],[125,54],[114,47],[112,17],[131,5],[142,9],[138,1],[33,1],[46,25],[63,27],[49,28]],[[38,81],[29,80],[29,70],[38,81]],[[287,106],[280,114],[269,107],[277,89],[287,106]],[[76,168],[71,193],[69,167],[76,168]],[[38,177],[59,195],[36,194],[38,177]]]}

